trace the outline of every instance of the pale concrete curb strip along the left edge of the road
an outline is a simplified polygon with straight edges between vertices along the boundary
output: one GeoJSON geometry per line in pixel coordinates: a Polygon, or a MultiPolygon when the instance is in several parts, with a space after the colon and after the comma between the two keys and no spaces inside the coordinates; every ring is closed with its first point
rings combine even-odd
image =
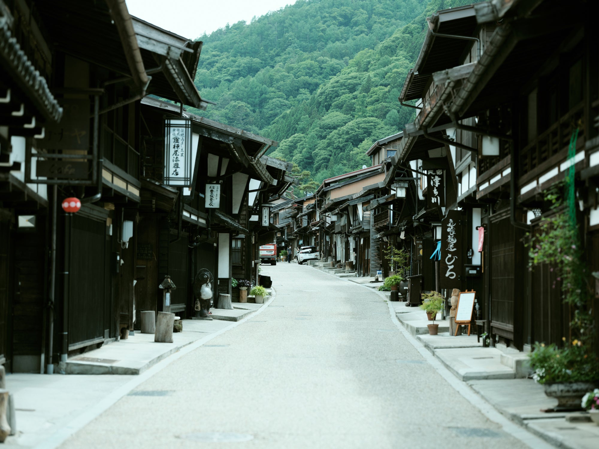
{"type": "Polygon", "coordinates": [[[56,447],[61,445],[67,438],[69,438],[69,436],[73,435],[75,432],[86,426],[86,424],[89,424],[92,420],[94,420],[96,417],[98,417],[100,414],[102,414],[104,411],[110,408],[111,405],[115,404],[117,401],[119,401],[119,399],[123,398],[123,396],[126,396],[129,392],[131,392],[131,390],[133,390],[135,387],[139,386],[141,383],[145,382],[150,377],[152,377],[162,369],[166,368],[175,360],[180,359],[185,354],[190,353],[191,351],[199,348],[201,345],[207,343],[213,338],[216,338],[222,333],[225,333],[228,330],[245,323],[247,320],[250,320],[256,315],[261,314],[268,307],[268,305],[270,305],[271,302],[273,302],[274,299],[276,299],[276,290],[274,288],[271,290],[272,292],[270,299],[267,302],[265,302],[261,308],[254,311],[252,314],[247,315],[240,321],[232,321],[231,325],[224,327],[223,329],[217,330],[216,332],[211,333],[210,335],[207,335],[204,338],[196,340],[183,348],[180,348],[180,350],[176,353],[171,354],[166,359],[161,360],[161,362],[156,363],[156,365],[153,365],[151,368],[144,371],[138,377],[135,377],[122,387],[119,387],[118,389],[114,390],[114,392],[107,395],[102,401],[98,402],[98,404],[81,414],[75,420],[72,420],[70,423],[66,424],[66,426],[62,427],[62,429],[59,429],[56,432],[54,432],[44,441],[35,445],[33,449],[55,449],[56,447]]]}

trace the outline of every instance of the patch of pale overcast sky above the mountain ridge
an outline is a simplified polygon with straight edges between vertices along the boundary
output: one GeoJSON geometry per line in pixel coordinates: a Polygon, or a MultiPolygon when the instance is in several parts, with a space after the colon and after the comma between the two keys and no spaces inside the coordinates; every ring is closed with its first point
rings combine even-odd
{"type": "Polygon", "coordinates": [[[295,0],[126,0],[129,14],[188,39],[210,34],[227,23],[247,23],[295,0]]]}

